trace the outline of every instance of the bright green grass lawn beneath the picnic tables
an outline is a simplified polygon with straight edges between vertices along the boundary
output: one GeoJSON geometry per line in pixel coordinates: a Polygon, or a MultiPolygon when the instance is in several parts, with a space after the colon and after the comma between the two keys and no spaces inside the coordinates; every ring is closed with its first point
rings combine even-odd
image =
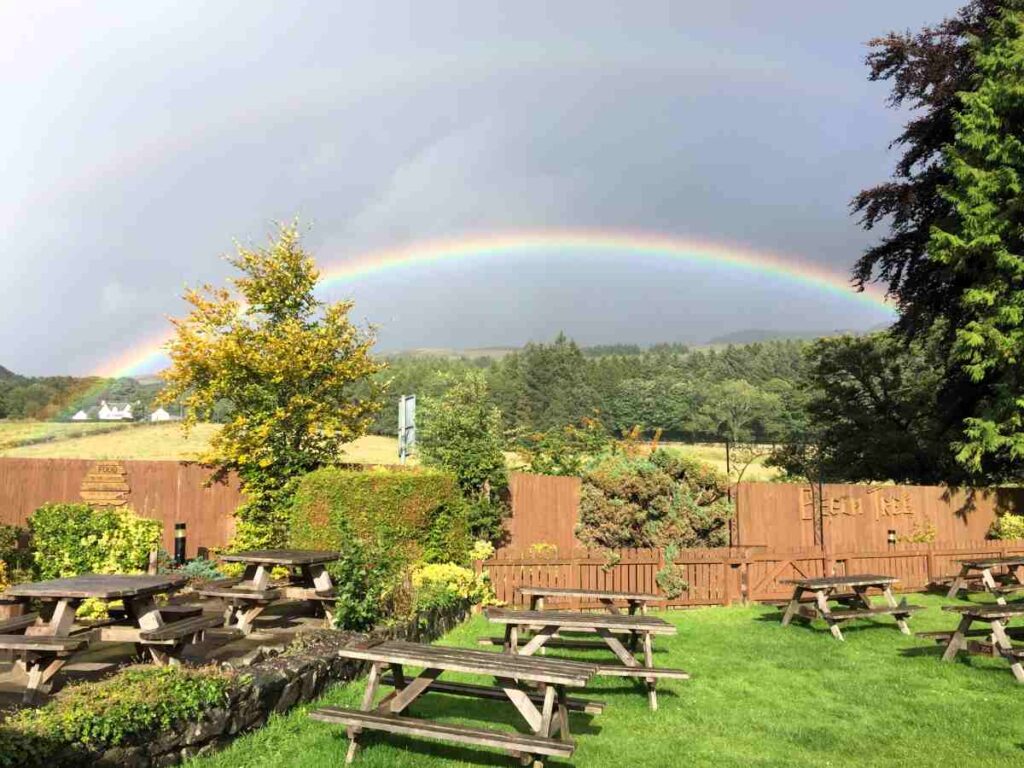
{"type": "MultiPolygon", "coordinates": [[[[916,630],[955,623],[939,610],[942,598],[912,602],[928,606],[911,621],[916,630]]],[[[655,640],[656,664],[681,667],[692,679],[659,685],[657,712],[647,709],[639,687],[596,680],[586,695],[608,707],[593,718],[572,716],[571,765],[989,766],[1024,759],[1024,688],[1001,659],[942,664],[938,646],[901,635],[885,618],[849,624],[840,643],[823,624],[782,628],[779,612],[761,606],[663,615],[679,634],[655,640]]],[[[441,643],[474,646],[484,634],[495,633],[476,617],[441,643]]],[[[357,708],[362,688],[361,680],[338,685],[316,705],[357,708]]],[[[309,720],[314,706],[274,717],[188,765],[336,768],[344,761],[344,729],[309,720]]],[[[428,694],[412,710],[416,717],[506,728],[515,722],[511,705],[442,694],[428,694]]],[[[362,743],[356,765],[366,768],[516,764],[499,753],[387,734],[368,734],[362,743]]]]}

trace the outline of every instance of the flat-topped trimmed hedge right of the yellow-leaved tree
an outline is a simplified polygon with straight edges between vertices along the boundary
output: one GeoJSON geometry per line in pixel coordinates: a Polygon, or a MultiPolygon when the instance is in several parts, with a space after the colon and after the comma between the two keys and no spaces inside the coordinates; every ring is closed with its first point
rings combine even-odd
{"type": "Polygon", "coordinates": [[[395,560],[467,562],[472,540],[454,475],[326,468],[299,481],[291,546],[344,551],[351,537],[395,560]]]}

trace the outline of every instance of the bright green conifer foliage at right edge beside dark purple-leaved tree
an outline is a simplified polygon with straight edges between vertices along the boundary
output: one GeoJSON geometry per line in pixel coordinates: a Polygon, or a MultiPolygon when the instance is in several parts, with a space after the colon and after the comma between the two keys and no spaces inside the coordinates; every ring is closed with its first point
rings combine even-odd
{"type": "Polygon", "coordinates": [[[1024,3],[1006,0],[975,43],[976,86],[961,93],[942,197],[953,215],[928,255],[955,284],[950,354],[967,378],[956,459],[985,475],[1024,459],[1024,3]]]}

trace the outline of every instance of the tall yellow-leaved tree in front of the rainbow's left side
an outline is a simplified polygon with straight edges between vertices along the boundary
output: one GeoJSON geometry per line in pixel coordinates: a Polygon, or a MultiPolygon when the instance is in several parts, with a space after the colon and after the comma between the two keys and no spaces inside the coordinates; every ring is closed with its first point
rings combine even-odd
{"type": "Polygon", "coordinates": [[[295,480],[337,463],[380,408],[373,378],[383,365],[374,337],[349,319],[352,302],[313,294],[319,272],[295,224],[265,248],[228,261],[242,272],[230,288],[188,290],[187,316],[173,319],[164,403],[184,406],[183,428],[227,404],[228,417],[203,461],[234,470],[247,502],[233,546],[274,547],[287,539],[295,480]]]}

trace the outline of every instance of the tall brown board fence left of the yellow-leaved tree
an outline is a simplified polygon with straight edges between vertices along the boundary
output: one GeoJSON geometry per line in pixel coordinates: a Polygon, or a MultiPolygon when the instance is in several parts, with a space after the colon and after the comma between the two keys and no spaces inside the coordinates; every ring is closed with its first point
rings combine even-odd
{"type": "MultiPolygon", "coordinates": [[[[0,459],[0,523],[24,525],[38,507],[78,502],[89,468],[80,459],[0,459]]],[[[238,479],[210,484],[210,470],[180,462],[122,462],[128,473],[128,506],[164,525],[164,547],[173,551],[174,523],[187,529],[188,556],[199,547],[222,547],[234,532],[242,503],[238,479]]]]}

